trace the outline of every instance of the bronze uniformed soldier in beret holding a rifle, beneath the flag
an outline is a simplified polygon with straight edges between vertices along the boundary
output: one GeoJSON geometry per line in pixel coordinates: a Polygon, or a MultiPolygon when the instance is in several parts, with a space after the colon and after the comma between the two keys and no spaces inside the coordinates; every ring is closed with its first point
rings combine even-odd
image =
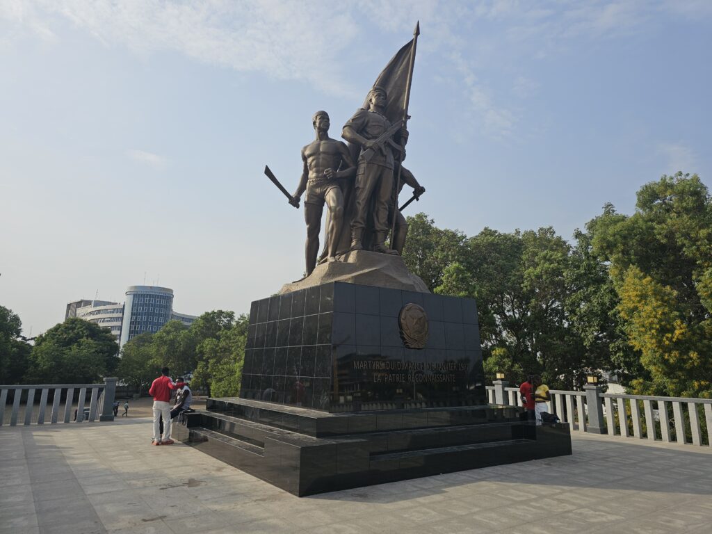
{"type": "Polygon", "coordinates": [[[377,142],[384,132],[391,128],[391,122],[383,115],[386,105],[386,91],[375,87],[368,96],[369,109],[358,110],[346,123],[341,136],[361,147],[356,173],[356,206],[351,222],[351,250],[363,248],[363,231],[369,204],[373,198],[373,225],[375,252],[397,254],[397,251],[386,248],[384,242],[388,233],[389,201],[393,190],[394,158],[391,147],[385,142],[377,142]],[[364,156],[366,150],[375,153],[370,160],[364,156]]]}

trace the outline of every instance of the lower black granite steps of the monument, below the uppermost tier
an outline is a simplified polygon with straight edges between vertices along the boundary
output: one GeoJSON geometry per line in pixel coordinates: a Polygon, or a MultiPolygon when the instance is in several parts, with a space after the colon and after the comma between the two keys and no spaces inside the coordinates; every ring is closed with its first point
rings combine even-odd
{"type": "Polygon", "coordinates": [[[204,412],[174,435],[298,496],[571,454],[568,425],[522,422],[318,438],[204,412]]]}

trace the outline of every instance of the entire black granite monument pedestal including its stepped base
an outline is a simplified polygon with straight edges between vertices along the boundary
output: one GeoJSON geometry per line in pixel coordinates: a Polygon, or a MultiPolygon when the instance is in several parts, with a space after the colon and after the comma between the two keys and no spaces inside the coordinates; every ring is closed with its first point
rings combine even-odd
{"type": "Polygon", "coordinates": [[[520,411],[486,403],[474,300],[336,282],[253,302],[240,397],[173,433],[305,496],[571,454],[520,411]]]}

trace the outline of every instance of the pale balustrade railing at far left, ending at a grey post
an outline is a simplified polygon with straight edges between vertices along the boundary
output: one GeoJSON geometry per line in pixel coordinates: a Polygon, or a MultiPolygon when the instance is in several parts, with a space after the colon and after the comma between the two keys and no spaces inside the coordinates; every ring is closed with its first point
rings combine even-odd
{"type": "Polygon", "coordinates": [[[51,424],[93,422],[97,417],[100,421],[112,421],[114,419],[113,404],[116,381],[115,378],[105,378],[103,384],[0,386],[0,426],[4,424],[15,426],[19,421],[26,425],[46,422],[51,424]],[[39,392],[38,405],[35,404],[37,392],[39,392]],[[89,405],[85,407],[88,392],[90,393],[89,405]],[[24,405],[23,398],[26,399],[24,405]],[[64,402],[62,402],[63,398],[64,402]],[[11,404],[9,404],[10,399],[11,404]],[[22,405],[23,412],[20,418],[22,405]],[[74,413],[72,413],[73,407],[75,407],[74,413]],[[8,408],[11,412],[9,412],[9,417],[6,417],[8,408]]]}

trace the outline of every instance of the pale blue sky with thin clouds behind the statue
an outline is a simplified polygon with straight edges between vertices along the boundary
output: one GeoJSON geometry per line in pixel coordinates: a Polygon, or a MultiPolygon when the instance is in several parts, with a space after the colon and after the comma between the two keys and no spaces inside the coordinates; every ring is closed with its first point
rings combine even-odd
{"type": "Polygon", "coordinates": [[[295,189],[313,112],[340,137],[417,20],[411,214],[569,239],[661,174],[711,183],[706,0],[4,0],[0,304],[34,335],[144,278],[195,315],[300,278],[263,167],[295,189]]]}

